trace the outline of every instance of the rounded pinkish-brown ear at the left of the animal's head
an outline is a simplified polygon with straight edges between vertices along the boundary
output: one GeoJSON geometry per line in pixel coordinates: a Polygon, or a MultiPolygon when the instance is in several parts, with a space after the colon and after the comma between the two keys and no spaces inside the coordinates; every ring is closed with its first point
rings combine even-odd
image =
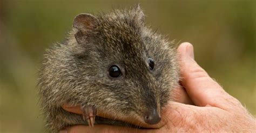
{"type": "Polygon", "coordinates": [[[78,43],[82,43],[85,40],[85,34],[90,33],[95,22],[96,17],[88,13],[79,14],[74,19],[73,27],[78,29],[78,32],[75,34],[75,38],[78,43]]]}

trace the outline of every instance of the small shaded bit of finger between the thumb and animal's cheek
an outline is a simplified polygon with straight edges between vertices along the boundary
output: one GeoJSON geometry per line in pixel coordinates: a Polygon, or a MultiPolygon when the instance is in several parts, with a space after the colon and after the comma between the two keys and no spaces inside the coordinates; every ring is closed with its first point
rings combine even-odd
{"type": "Polygon", "coordinates": [[[176,102],[193,105],[192,100],[188,97],[186,90],[182,86],[179,86],[171,92],[171,98],[176,102]]]}

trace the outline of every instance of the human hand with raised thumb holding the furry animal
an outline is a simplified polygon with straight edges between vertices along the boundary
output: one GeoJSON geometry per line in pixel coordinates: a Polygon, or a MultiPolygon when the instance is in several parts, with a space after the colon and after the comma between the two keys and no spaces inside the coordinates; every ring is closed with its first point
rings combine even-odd
{"type": "MultiPolygon", "coordinates": [[[[194,61],[193,46],[182,43],[178,53],[181,85],[186,91],[179,89],[178,96],[173,95],[178,102],[170,101],[167,105],[162,114],[166,120],[163,127],[133,129],[113,125],[95,125],[93,128],[76,125],[61,132],[255,132],[256,120],[250,113],[194,61]]],[[[77,112],[76,108],[64,109],[77,112]]]]}

